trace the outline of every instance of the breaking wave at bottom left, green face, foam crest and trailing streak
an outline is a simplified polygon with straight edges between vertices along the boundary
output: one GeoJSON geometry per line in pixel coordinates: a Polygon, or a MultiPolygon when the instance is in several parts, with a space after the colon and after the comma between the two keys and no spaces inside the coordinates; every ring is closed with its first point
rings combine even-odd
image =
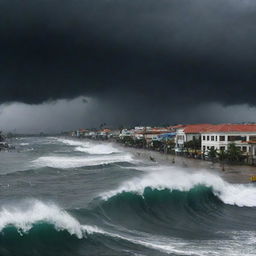
{"type": "MultiPolygon", "coordinates": [[[[64,209],[53,203],[44,203],[39,200],[22,201],[19,206],[2,207],[0,231],[0,252],[2,248],[6,248],[4,254],[7,253],[7,255],[13,251],[14,253],[18,251],[20,255],[26,255],[28,252],[32,253],[32,249],[38,255],[43,255],[42,252],[51,255],[54,252],[59,253],[68,246],[72,246],[72,249],[76,248],[77,239],[89,239],[90,242],[90,236],[102,236],[101,239],[98,238],[101,243],[104,243],[103,238],[106,237],[106,239],[113,239],[113,243],[115,240],[123,240],[126,243],[167,253],[182,253],[182,250],[175,249],[175,246],[154,241],[154,238],[146,237],[145,234],[137,233],[137,236],[142,235],[142,237],[135,239],[133,232],[126,231],[125,234],[118,234],[95,225],[82,225],[64,209]],[[21,248],[15,246],[21,246],[21,248]],[[24,248],[24,246],[27,247],[24,248]],[[49,249],[52,251],[49,252],[49,249]]],[[[95,244],[96,241],[95,237],[95,241],[92,240],[92,243],[95,244]]]]}

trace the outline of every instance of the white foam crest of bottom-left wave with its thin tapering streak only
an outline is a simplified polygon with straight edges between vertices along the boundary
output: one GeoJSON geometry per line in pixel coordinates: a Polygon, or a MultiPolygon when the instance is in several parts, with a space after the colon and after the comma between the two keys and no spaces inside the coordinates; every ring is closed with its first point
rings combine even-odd
{"type": "Polygon", "coordinates": [[[66,230],[71,235],[76,235],[79,239],[97,233],[126,240],[131,243],[141,244],[149,248],[165,251],[171,249],[173,251],[173,248],[169,245],[154,244],[129,236],[111,233],[97,226],[81,225],[73,216],[53,203],[29,200],[24,201],[19,206],[5,206],[0,209],[0,231],[8,226],[14,226],[21,234],[27,233],[38,223],[52,224],[57,231],[66,230]]]}

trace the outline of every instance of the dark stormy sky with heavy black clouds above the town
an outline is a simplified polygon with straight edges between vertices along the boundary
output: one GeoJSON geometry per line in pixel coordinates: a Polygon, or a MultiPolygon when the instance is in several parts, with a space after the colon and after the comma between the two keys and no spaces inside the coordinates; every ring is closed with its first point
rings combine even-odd
{"type": "Polygon", "coordinates": [[[254,0],[1,0],[0,129],[256,121],[255,31],[254,0]]]}

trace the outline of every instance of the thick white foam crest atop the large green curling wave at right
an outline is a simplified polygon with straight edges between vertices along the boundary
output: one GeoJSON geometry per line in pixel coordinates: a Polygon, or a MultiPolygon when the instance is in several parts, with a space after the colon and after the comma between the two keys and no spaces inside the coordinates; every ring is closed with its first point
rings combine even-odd
{"type": "MultiPolygon", "coordinates": [[[[141,170],[141,168],[138,169],[141,170]]],[[[145,173],[142,177],[126,181],[117,189],[101,194],[101,197],[107,200],[122,192],[143,195],[147,187],[157,190],[189,191],[197,185],[211,187],[213,193],[226,204],[256,207],[256,187],[252,184],[230,184],[206,170],[187,171],[180,167],[169,166],[153,167],[153,171],[145,173]]]]}

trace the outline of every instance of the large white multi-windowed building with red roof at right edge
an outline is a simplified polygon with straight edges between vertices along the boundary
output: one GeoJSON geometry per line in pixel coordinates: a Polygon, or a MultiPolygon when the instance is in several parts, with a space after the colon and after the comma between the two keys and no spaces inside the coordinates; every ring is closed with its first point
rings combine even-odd
{"type": "Polygon", "coordinates": [[[212,125],[202,133],[202,152],[213,148],[227,150],[235,143],[244,154],[256,156],[256,124],[219,124],[212,125]]]}

